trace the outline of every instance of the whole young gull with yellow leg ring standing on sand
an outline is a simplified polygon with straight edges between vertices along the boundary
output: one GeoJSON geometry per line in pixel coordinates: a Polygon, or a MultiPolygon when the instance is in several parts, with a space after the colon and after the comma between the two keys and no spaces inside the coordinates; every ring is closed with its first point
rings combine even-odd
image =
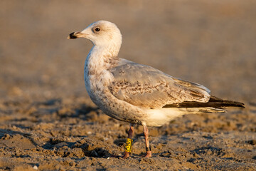
{"type": "Polygon", "coordinates": [[[122,158],[130,155],[134,125],[142,125],[146,154],[151,157],[149,127],[160,127],[185,114],[225,112],[244,104],[210,95],[205,86],[174,78],[151,66],[119,58],[122,34],[110,21],[96,21],[68,39],[87,38],[93,44],[85,60],[85,87],[104,113],[130,123],[122,158]]]}

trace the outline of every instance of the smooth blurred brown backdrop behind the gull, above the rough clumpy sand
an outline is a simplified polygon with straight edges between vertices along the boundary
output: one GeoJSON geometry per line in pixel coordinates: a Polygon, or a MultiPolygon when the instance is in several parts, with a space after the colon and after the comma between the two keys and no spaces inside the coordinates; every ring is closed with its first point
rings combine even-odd
{"type": "Polygon", "coordinates": [[[255,101],[256,1],[0,1],[0,99],[85,97],[92,43],[67,40],[97,20],[123,36],[119,57],[255,101]]]}

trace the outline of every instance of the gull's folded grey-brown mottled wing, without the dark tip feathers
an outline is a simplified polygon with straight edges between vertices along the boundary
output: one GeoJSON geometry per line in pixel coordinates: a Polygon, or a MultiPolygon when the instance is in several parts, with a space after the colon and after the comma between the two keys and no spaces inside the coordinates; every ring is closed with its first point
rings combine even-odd
{"type": "Polygon", "coordinates": [[[111,93],[119,100],[144,108],[162,108],[183,101],[207,102],[209,90],[199,84],[177,78],[138,63],[121,60],[109,70],[114,81],[111,93]]]}

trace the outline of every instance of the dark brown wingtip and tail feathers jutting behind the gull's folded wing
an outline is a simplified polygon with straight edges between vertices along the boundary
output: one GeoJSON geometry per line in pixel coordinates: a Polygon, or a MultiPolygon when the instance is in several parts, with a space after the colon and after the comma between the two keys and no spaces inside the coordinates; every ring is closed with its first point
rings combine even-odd
{"type": "Polygon", "coordinates": [[[210,96],[210,100],[207,103],[201,102],[183,102],[171,105],[165,105],[163,108],[245,108],[244,103],[236,102],[233,100],[223,100],[213,95],[210,96]]]}

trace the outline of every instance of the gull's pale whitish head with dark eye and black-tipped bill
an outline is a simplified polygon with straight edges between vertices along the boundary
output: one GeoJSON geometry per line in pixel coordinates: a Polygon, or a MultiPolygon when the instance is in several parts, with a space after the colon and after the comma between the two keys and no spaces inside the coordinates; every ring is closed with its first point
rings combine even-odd
{"type": "Polygon", "coordinates": [[[87,38],[95,46],[109,46],[115,44],[121,46],[122,35],[119,28],[110,21],[96,21],[83,31],[70,33],[68,39],[87,38]]]}

